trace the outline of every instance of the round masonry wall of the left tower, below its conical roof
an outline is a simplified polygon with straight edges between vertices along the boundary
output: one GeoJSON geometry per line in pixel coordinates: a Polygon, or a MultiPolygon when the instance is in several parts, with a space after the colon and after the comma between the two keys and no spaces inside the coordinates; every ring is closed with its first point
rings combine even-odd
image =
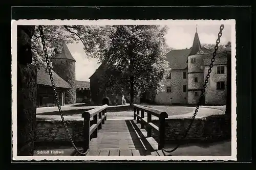
{"type": "Polygon", "coordinates": [[[75,61],[69,59],[52,59],[53,70],[65,81],[67,81],[72,89],[65,93],[65,104],[76,103],[76,75],[75,61]]]}

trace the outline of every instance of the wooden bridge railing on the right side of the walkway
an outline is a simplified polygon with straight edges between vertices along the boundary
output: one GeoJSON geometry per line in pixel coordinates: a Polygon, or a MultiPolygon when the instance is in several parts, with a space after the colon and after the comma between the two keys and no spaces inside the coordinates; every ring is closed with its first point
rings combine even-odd
{"type": "Polygon", "coordinates": [[[140,106],[134,104],[134,120],[137,119],[137,123],[140,123],[141,129],[146,126],[147,137],[152,136],[152,130],[158,131],[158,149],[164,148],[165,141],[165,118],[168,114],[165,111],[153,109],[150,107],[140,106]],[[147,118],[144,118],[144,113],[147,113],[147,118]],[[158,117],[158,126],[152,123],[152,115],[158,117]]]}

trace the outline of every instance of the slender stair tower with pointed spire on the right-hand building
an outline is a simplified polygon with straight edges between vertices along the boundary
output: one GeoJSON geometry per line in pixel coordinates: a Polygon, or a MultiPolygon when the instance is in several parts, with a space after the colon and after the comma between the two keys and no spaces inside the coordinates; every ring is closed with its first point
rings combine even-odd
{"type": "Polygon", "coordinates": [[[201,95],[201,90],[204,85],[204,70],[203,70],[203,52],[201,43],[196,32],[191,52],[187,62],[187,102],[188,104],[197,104],[201,95]]]}

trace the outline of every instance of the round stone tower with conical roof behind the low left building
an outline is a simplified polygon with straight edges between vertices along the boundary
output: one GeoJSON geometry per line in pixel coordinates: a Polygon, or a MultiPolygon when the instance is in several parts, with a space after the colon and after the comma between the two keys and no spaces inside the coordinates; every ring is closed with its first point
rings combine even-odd
{"type": "Polygon", "coordinates": [[[71,86],[71,89],[65,92],[65,104],[74,104],[76,102],[76,60],[72,57],[67,44],[63,44],[61,53],[55,52],[56,55],[51,59],[53,70],[71,86]]]}

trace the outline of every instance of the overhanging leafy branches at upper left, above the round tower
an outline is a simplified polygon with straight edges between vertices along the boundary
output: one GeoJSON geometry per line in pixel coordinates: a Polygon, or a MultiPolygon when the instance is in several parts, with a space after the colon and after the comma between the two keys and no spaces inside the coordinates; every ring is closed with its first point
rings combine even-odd
{"type": "MultiPolygon", "coordinates": [[[[111,28],[109,26],[43,26],[47,53],[52,57],[55,49],[62,50],[63,43],[82,42],[83,50],[88,57],[101,59],[104,49],[109,45],[111,28]]],[[[31,41],[33,64],[38,68],[46,66],[38,26],[35,27],[31,41]]]]}

